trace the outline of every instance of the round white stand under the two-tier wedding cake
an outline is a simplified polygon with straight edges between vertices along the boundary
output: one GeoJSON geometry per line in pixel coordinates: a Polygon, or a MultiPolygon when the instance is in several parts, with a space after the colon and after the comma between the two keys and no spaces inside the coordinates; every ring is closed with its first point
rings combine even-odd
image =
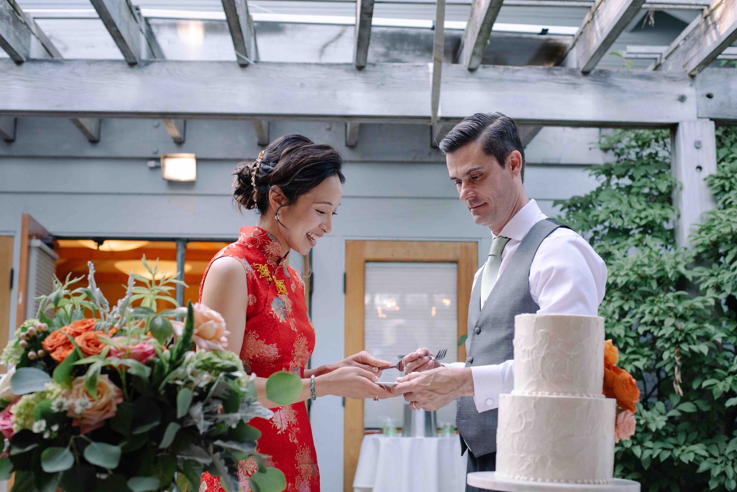
{"type": "Polygon", "coordinates": [[[468,485],[500,492],[640,492],[640,482],[615,478],[612,483],[531,482],[497,477],[495,471],[476,471],[467,475],[468,485]]]}

